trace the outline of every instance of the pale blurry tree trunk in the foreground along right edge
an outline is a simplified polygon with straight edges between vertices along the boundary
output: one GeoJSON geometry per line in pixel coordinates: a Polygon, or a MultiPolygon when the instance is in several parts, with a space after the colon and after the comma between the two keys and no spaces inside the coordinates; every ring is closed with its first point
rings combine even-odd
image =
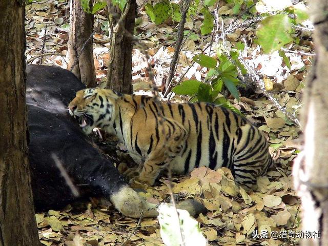
{"type": "Polygon", "coordinates": [[[311,0],[316,56],[306,79],[301,122],[304,148],[294,164],[302,201],[302,230],[321,233],[301,245],[328,245],[328,1],[311,0]]]}

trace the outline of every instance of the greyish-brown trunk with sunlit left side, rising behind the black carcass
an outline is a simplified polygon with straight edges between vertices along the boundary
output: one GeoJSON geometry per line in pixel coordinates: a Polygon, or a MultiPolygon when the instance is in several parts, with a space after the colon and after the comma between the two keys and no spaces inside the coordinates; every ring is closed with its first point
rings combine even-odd
{"type": "MultiPolygon", "coordinates": [[[[90,1],[92,9],[93,1],[90,1]]],[[[68,69],[87,87],[95,87],[96,73],[92,50],[93,14],[83,11],[81,0],[71,0],[70,34],[68,38],[68,69]],[[90,37],[91,36],[91,37],[90,37]]]]}

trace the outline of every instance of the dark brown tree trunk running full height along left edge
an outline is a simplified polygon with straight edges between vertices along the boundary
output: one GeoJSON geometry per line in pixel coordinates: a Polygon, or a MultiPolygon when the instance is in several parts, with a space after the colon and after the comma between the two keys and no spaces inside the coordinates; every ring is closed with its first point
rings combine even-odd
{"type": "Polygon", "coordinates": [[[27,157],[25,0],[0,1],[0,245],[39,245],[27,157]]]}

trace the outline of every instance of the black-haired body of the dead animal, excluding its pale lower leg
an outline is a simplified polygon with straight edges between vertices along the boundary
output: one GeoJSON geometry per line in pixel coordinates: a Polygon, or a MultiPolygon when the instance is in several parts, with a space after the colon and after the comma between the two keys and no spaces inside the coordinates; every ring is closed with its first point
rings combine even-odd
{"type": "Polygon", "coordinates": [[[80,130],[67,105],[85,88],[59,67],[27,67],[29,162],[37,211],[59,209],[76,199],[52,153],[65,168],[80,197],[109,196],[127,186],[124,178],[80,130]]]}

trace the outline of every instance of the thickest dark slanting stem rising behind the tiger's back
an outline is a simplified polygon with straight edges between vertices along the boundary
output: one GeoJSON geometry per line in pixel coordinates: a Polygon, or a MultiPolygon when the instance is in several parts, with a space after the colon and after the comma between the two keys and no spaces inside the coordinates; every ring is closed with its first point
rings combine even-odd
{"type": "Polygon", "coordinates": [[[190,0],[185,0],[181,6],[182,9],[182,16],[181,16],[181,20],[179,23],[179,28],[178,28],[178,37],[176,40],[176,45],[175,45],[175,51],[174,51],[174,55],[173,55],[173,59],[171,61],[171,67],[170,67],[170,74],[168,77],[168,80],[166,81],[166,85],[165,85],[165,93],[163,94],[163,97],[166,97],[169,93],[170,93],[170,88],[171,88],[171,84],[172,84],[172,80],[173,80],[173,76],[176,70],[176,64],[178,61],[178,56],[181,50],[181,44],[182,44],[182,40],[183,40],[183,29],[185,28],[185,23],[186,23],[186,18],[187,18],[187,12],[190,6],[190,0]]]}

